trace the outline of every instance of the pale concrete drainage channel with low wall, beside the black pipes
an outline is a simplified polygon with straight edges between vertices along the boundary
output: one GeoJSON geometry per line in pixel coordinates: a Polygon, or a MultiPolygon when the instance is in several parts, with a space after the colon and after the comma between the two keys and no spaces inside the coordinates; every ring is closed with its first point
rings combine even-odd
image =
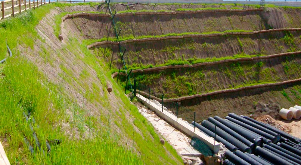
{"type": "Polygon", "coordinates": [[[137,94],[136,96],[139,101],[150,109],[146,110],[138,106],[140,113],[177,150],[184,163],[195,165],[219,164],[220,144],[217,141],[206,136],[187,121],[183,121],[181,118],[176,119],[176,116],[165,107],[162,107],[158,101],[150,102],[142,95],[137,94]],[[195,143],[201,144],[200,147],[194,148],[195,143]],[[214,154],[213,151],[218,155],[214,154]]]}

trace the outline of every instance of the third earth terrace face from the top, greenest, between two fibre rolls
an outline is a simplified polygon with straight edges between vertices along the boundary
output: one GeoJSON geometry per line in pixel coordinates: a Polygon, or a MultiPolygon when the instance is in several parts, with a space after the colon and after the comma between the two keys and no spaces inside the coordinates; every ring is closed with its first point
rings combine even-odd
{"type": "MultiPolygon", "coordinates": [[[[194,68],[170,68],[165,70],[132,73],[141,91],[160,98],[181,98],[182,96],[237,88],[260,82],[281,82],[300,78],[300,54],[253,61],[228,62],[203,65],[194,68]],[[294,66],[294,67],[291,67],[294,66]]],[[[133,81],[133,78],[132,78],[133,81]]]]}

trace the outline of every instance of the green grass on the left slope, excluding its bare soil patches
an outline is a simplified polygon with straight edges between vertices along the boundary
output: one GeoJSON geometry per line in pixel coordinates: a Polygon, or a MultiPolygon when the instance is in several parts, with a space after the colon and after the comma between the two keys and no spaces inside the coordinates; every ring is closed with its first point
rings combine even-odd
{"type": "MultiPolygon", "coordinates": [[[[179,164],[181,158],[175,150],[168,143],[164,146],[160,145],[160,138],[154,128],[140,115],[137,108],[123,94],[123,90],[110,77],[104,61],[93,56],[85,45],[73,40],[71,44],[63,46],[63,49],[73,50],[73,53],[81,51],[84,57],[78,56],[78,60],[96,71],[100,78],[96,83],[100,83],[103,89],[106,86],[105,79],[112,82],[114,94],[120,97],[124,104],[119,112],[116,111],[117,116],[111,114],[111,118],[107,116],[98,118],[85,115],[85,111],[78,106],[73,97],[68,95],[68,91],[65,91],[59,84],[48,82],[47,76],[39,71],[34,63],[25,59],[22,52],[18,51],[18,45],[34,49],[35,41],[42,40],[35,26],[57,5],[45,5],[36,10],[24,12],[16,18],[0,22],[0,38],[7,38],[14,55],[5,64],[0,65],[0,140],[11,164],[119,164],[120,162],[124,164],[179,164]],[[66,109],[71,109],[77,114],[77,118],[72,120],[66,116],[66,109]],[[25,110],[31,111],[36,119],[33,128],[43,150],[46,151],[46,139],[62,139],[60,145],[51,146],[50,154],[43,155],[37,149],[35,149],[36,154],[30,154],[23,138],[28,138],[34,148],[36,145],[29,123],[25,122],[22,115],[25,110]],[[127,114],[134,118],[133,123],[127,119],[127,114]],[[78,130],[84,129],[82,124],[88,125],[94,130],[93,138],[80,140],[70,138],[61,130],[61,122],[70,122],[71,127],[78,130]],[[120,135],[114,132],[110,126],[111,122],[123,130],[121,134],[134,141],[132,147],[120,144],[120,135]],[[140,133],[135,130],[133,124],[140,133]]],[[[1,40],[0,45],[2,57],[6,54],[5,41],[1,40]]],[[[51,62],[53,61],[45,61],[50,64],[51,62]]],[[[66,73],[66,75],[69,74],[66,73]]],[[[87,95],[87,99],[101,102],[109,112],[115,111],[110,109],[107,93],[100,95],[101,92],[91,92],[92,95],[87,95]]],[[[83,137],[82,134],[79,136],[83,137]]]]}

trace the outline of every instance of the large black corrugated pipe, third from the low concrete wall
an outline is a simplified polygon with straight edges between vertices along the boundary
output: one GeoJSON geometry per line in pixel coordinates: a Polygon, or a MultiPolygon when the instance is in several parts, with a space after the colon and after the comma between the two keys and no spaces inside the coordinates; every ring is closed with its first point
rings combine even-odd
{"type": "Polygon", "coordinates": [[[246,138],[244,138],[243,136],[241,136],[240,134],[238,134],[237,132],[231,130],[230,128],[228,128],[227,126],[223,125],[221,122],[217,121],[216,119],[213,119],[212,117],[208,118],[208,121],[211,123],[216,123],[216,126],[218,126],[219,128],[221,128],[223,131],[227,132],[228,134],[230,134],[231,136],[235,137],[237,140],[240,140],[242,143],[246,144],[247,146],[251,147],[251,149],[255,149],[256,146],[259,146],[261,143],[261,140],[253,140],[254,142],[256,142],[255,144],[250,142],[249,140],[247,140],[246,138]]]}

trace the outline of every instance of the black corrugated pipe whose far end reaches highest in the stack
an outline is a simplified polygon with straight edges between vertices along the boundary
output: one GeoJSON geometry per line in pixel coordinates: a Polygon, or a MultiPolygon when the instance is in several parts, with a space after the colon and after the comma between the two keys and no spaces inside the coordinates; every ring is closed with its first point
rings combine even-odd
{"type": "Polygon", "coordinates": [[[235,113],[229,113],[228,116],[230,116],[231,118],[236,119],[236,120],[238,120],[240,122],[243,122],[243,123],[245,123],[247,125],[250,125],[250,126],[252,126],[254,128],[257,128],[257,129],[259,129],[259,130],[261,130],[261,131],[263,131],[263,132],[265,132],[267,134],[275,136],[277,138],[278,142],[279,142],[279,140],[281,138],[280,134],[277,134],[274,131],[271,131],[271,130],[265,128],[265,127],[262,127],[261,125],[258,125],[258,124],[254,123],[254,122],[251,122],[251,121],[249,121],[249,120],[247,120],[247,119],[245,119],[245,118],[243,118],[241,116],[238,116],[235,113]]]}

